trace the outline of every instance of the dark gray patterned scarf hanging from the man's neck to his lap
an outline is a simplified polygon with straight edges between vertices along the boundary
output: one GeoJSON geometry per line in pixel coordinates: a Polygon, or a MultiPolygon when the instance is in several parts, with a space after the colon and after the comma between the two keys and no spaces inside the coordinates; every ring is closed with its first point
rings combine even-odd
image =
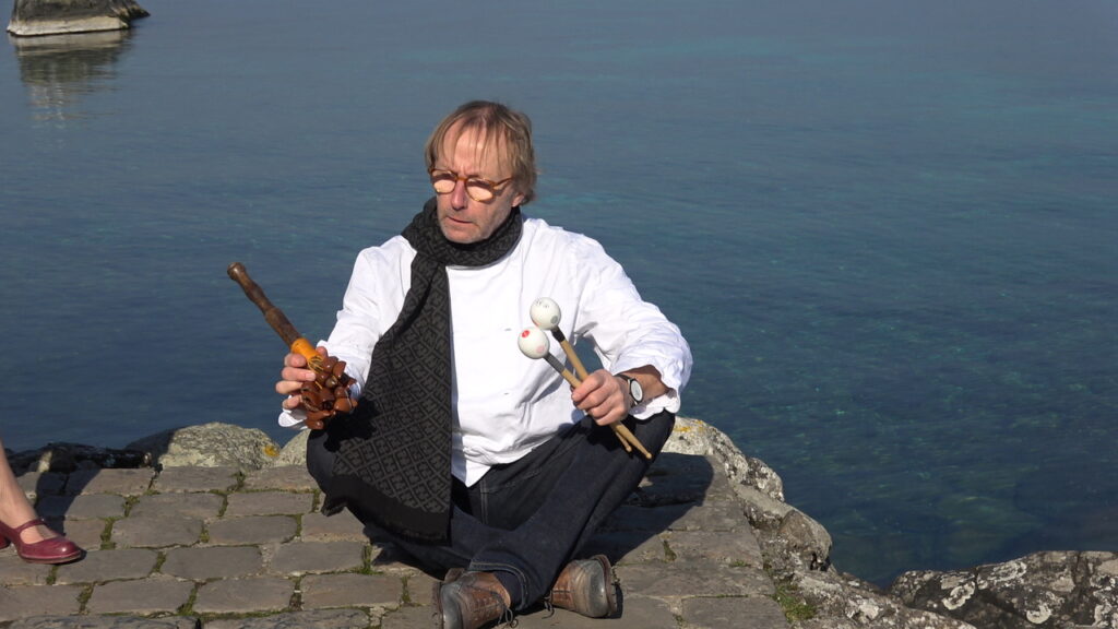
{"type": "Polygon", "coordinates": [[[323,511],[348,505],[405,537],[445,542],[451,517],[451,294],[446,266],[485,266],[512,251],[513,208],[487,240],[459,245],[438,226],[435,198],[402,235],[416,250],[404,309],[372,350],[352,416],[328,425],[338,440],[323,511]],[[335,424],[341,430],[334,430],[335,424]]]}

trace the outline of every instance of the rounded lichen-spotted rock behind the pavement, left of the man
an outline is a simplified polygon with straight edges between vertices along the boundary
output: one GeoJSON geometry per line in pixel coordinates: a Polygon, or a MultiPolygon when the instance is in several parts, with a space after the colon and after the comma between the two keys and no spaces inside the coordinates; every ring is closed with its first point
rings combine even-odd
{"type": "Polygon", "coordinates": [[[208,423],[172,429],[127,444],[141,450],[161,468],[233,467],[241,471],[272,466],[280,448],[258,429],[208,423]]]}

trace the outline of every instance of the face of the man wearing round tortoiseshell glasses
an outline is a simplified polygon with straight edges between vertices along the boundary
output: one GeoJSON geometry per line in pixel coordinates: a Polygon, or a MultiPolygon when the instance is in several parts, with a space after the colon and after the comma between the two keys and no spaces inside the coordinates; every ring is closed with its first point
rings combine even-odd
{"type": "MultiPolygon", "coordinates": [[[[490,181],[508,179],[512,172],[503,170],[501,165],[505,147],[496,144],[486,145],[485,134],[476,129],[462,131],[454,125],[443,140],[434,167],[454,171],[459,177],[481,177],[490,181]]],[[[446,240],[458,244],[477,243],[492,236],[513,206],[524,200],[512,181],[501,186],[496,196],[486,203],[470,198],[465,181],[457,181],[453,191],[437,198],[438,226],[446,240]]]]}

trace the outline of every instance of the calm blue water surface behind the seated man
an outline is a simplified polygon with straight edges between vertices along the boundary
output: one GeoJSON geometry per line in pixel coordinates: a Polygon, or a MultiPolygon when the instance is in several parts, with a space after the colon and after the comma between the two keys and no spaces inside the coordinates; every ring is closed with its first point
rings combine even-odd
{"type": "MultiPolygon", "coordinates": [[[[887,582],[1118,551],[1118,4],[141,0],[0,46],[0,435],[275,425],[470,98],[684,330],[684,414],[887,582]]],[[[527,318],[527,313],[525,313],[527,318]]]]}

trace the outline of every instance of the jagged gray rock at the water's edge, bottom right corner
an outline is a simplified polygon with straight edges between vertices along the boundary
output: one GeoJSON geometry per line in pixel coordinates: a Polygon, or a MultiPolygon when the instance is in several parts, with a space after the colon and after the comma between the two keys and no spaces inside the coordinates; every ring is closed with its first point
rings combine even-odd
{"type": "Polygon", "coordinates": [[[907,572],[906,604],[998,629],[1118,628],[1118,553],[1043,552],[967,571],[907,572]]]}

